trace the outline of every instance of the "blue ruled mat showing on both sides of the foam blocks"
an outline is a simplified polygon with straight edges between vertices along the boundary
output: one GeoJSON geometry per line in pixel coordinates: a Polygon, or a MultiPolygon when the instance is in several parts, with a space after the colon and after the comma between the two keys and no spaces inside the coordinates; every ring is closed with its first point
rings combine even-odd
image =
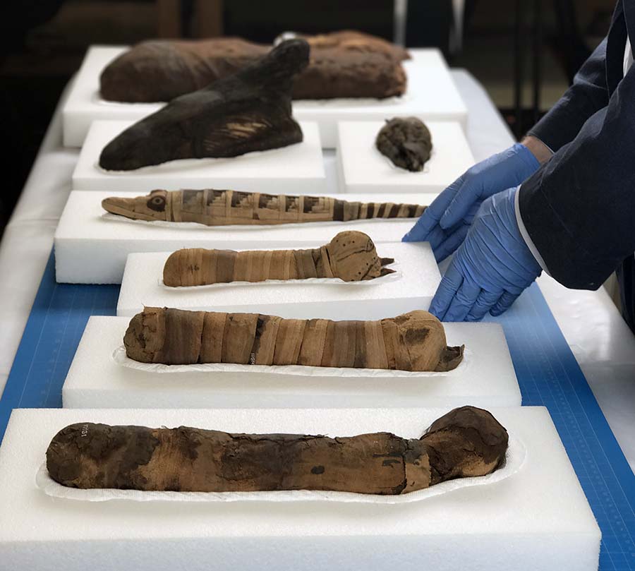
{"type": "MultiPolygon", "coordinates": [[[[119,286],[56,284],[51,256],[0,399],[0,438],[12,409],[61,407],[88,318],[115,315],[118,296],[119,286]]],[[[495,321],[504,327],[523,404],[549,409],[598,519],[600,570],[635,571],[635,476],[538,286],[495,321]]]]}

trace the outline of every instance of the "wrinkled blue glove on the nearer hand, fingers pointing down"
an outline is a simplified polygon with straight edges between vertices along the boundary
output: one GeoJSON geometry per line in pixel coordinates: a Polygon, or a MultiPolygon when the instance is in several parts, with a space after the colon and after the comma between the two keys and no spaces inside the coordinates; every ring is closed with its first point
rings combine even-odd
{"type": "Polygon", "coordinates": [[[430,313],[445,321],[478,321],[500,315],[542,271],[521,236],[517,188],[491,196],[474,218],[447,268],[430,313]]]}

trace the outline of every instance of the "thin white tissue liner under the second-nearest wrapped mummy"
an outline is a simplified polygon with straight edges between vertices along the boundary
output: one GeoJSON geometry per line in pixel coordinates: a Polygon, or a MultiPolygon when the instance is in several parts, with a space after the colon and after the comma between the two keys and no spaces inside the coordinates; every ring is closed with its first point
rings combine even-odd
{"type": "Polygon", "coordinates": [[[126,355],[126,347],[117,347],[112,360],[119,366],[133,368],[145,373],[251,373],[254,375],[295,375],[303,377],[339,378],[418,378],[432,380],[435,377],[465,375],[471,366],[472,355],[464,349],[463,360],[452,371],[394,371],[382,368],[310,367],[305,365],[239,365],[237,363],[194,363],[192,365],[164,365],[163,363],[141,363],[126,355]]]}

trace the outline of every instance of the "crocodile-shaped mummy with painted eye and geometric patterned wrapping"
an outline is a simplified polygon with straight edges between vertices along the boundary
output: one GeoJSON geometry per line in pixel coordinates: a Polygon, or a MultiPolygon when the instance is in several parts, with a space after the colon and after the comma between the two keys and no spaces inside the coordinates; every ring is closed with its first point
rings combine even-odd
{"type": "Polygon", "coordinates": [[[228,224],[291,224],[294,222],[349,222],[370,218],[418,218],[425,206],[360,203],[327,196],[286,196],[238,191],[152,191],[135,198],[102,200],[111,214],[152,222],[228,224]]]}

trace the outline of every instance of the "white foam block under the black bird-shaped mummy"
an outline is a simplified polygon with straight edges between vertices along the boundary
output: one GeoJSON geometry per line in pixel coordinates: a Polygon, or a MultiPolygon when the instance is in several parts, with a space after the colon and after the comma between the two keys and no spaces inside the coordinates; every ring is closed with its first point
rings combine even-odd
{"type": "Polygon", "coordinates": [[[73,172],[73,188],[85,191],[138,191],[155,188],[240,188],[246,192],[322,194],[326,174],[317,124],[302,122],[303,141],[279,149],[228,159],[164,162],[133,171],[99,167],[103,148],[131,121],[95,121],[73,172]]]}

